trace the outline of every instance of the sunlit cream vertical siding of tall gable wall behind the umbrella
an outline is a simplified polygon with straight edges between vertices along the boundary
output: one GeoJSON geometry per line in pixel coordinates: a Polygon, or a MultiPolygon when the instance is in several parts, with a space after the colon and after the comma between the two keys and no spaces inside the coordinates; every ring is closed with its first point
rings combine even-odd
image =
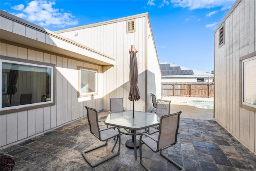
{"type": "MultiPolygon", "coordinates": [[[[132,102],[128,100],[130,89],[128,52],[132,44],[138,50],[138,87],[140,100],[134,104],[135,110],[145,109],[145,17],[136,18],[136,32],[126,33],[126,21],[104,24],[91,28],[82,28],[74,31],[59,33],[78,43],[95,49],[116,61],[113,67],[103,67],[103,103],[102,109],[110,110],[110,98],[124,98],[125,110],[132,109],[132,102]],[[74,34],[78,36],[74,38],[74,34]]],[[[156,58],[156,56],[155,56],[156,58]]]]}

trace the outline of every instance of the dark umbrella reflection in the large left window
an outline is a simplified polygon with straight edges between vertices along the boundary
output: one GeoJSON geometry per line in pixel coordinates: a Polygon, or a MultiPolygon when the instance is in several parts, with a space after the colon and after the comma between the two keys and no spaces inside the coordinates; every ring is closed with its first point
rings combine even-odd
{"type": "Polygon", "coordinates": [[[7,88],[7,94],[10,94],[10,104],[12,102],[12,94],[15,94],[17,92],[17,81],[18,81],[18,70],[15,70],[12,66],[10,73],[9,73],[9,81],[8,81],[8,88],[7,88]]]}

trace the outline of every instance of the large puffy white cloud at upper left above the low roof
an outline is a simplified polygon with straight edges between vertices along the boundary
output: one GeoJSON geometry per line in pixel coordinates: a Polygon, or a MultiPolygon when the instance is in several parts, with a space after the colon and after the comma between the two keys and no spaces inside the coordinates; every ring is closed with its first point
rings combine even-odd
{"type": "Polygon", "coordinates": [[[64,28],[66,26],[74,26],[78,21],[69,12],[63,12],[63,9],[53,8],[54,1],[34,0],[28,4],[20,4],[11,8],[22,11],[15,14],[16,16],[34,22],[39,26],[52,26],[64,28]]]}

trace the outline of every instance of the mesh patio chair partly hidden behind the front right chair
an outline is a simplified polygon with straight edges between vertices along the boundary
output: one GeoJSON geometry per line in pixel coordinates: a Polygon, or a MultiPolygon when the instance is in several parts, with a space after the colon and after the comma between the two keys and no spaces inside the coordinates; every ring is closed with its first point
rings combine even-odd
{"type": "MultiPolygon", "coordinates": [[[[170,114],[170,108],[171,108],[171,101],[170,100],[157,100],[157,105],[156,105],[156,115],[157,118],[160,120],[160,118],[164,115],[170,114]]],[[[156,129],[155,132],[150,133],[150,128],[148,128],[148,134],[154,134],[158,132],[159,126],[158,127],[152,127],[156,129]]]]}

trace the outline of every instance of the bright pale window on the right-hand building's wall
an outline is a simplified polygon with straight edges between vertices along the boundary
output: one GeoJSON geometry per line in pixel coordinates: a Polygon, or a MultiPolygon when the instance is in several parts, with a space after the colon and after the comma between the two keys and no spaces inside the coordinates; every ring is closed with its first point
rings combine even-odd
{"type": "Polygon", "coordinates": [[[256,56],[241,60],[241,71],[241,103],[256,110],[256,56]]]}

